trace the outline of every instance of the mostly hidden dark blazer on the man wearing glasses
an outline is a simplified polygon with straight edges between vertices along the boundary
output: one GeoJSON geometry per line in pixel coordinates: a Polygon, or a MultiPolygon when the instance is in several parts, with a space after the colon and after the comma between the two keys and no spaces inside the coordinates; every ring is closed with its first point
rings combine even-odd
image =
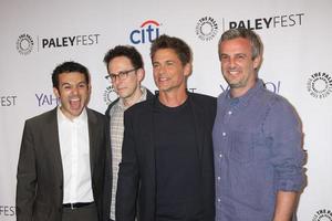
{"type": "MultiPolygon", "coordinates": [[[[153,97],[154,97],[154,94],[146,88],[146,99],[152,99],[153,97]]],[[[111,117],[110,117],[110,112],[111,112],[112,107],[118,102],[118,99],[120,98],[117,98],[114,102],[112,102],[108,105],[108,107],[107,107],[107,109],[105,112],[105,116],[107,118],[107,134],[108,134],[108,139],[111,139],[111,126],[110,126],[111,117]]],[[[106,221],[110,220],[111,197],[112,197],[112,193],[114,193],[114,192],[112,192],[112,185],[113,185],[112,183],[112,180],[113,180],[112,173],[113,173],[113,171],[112,171],[112,151],[111,151],[112,145],[111,145],[111,141],[110,141],[110,147],[108,148],[110,148],[110,151],[107,154],[107,159],[106,160],[107,160],[107,164],[110,165],[110,167],[107,167],[108,171],[106,171],[106,183],[105,183],[105,191],[104,191],[105,192],[104,193],[104,198],[105,198],[105,209],[104,209],[104,211],[105,211],[105,214],[107,215],[107,219],[105,219],[106,221]]]]}

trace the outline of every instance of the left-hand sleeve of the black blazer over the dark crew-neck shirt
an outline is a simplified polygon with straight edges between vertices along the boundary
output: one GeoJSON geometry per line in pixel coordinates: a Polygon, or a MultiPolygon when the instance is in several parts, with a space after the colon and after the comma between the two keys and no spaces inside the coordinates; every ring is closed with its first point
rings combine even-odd
{"type": "Polygon", "coordinates": [[[133,118],[125,112],[122,162],[120,164],[115,217],[116,221],[134,221],[138,189],[138,164],[133,130],[133,118]]]}

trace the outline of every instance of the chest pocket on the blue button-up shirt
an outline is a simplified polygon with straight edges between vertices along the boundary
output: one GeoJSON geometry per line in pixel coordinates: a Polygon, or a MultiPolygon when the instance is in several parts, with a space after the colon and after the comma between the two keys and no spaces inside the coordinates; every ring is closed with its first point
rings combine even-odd
{"type": "Polygon", "coordinates": [[[229,158],[241,164],[253,160],[253,134],[248,131],[232,131],[229,158]]]}

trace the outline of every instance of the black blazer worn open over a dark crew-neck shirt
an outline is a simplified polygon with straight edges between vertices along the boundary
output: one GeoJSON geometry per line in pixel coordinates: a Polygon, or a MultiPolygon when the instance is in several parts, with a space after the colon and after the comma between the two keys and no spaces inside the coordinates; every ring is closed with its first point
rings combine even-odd
{"type": "MultiPolygon", "coordinates": [[[[188,93],[195,118],[196,140],[201,168],[204,221],[215,220],[215,173],[211,130],[216,98],[188,93]]],[[[139,103],[125,112],[123,158],[116,192],[116,221],[134,221],[138,198],[138,218],[154,221],[156,210],[156,167],[154,147],[155,102],[139,103]],[[141,188],[138,188],[141,186],[141,188]]],[[[170,162],[172,164],[172,162],[170,162]]],[[[176,172],[176,171],[174,171],[176,172]]],[[[190,212],[190,211],[188,211],[190,212]]]]}

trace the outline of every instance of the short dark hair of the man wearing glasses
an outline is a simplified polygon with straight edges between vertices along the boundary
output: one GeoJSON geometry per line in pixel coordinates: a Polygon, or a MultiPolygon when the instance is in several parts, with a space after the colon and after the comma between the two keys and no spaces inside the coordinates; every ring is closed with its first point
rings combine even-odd
{"type": "Polygon", "coordinates": [[[144,69],[144,63],[141,53],[131,45],[117,45],[114,49],[111,49],[104,56],[104,63],[108,72],[108,64],[111,60],[117,56],[125,56],[131,60],[134,69],[144,69]]]}

